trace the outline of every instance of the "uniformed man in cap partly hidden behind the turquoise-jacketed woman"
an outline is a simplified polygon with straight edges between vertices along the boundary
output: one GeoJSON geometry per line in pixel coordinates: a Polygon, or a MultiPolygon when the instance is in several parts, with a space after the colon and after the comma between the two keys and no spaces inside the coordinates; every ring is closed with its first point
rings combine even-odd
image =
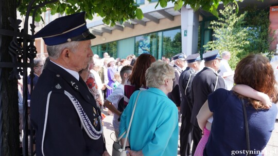
{"type": "Polygon", "coordinates": [[[179,109],[179,121],[180,121],[180,105],[181,105],[181,93],[179,87],[179,79],[182,73],[182,68],[185,66],[185,56],[183,53],[179,53],[175,56],[172,56],[171,59],[174,62],[173,67],[175,68],[176,80],[173,81],[173,89],[167,94],[169,99],[171,99],[179,109]]]}

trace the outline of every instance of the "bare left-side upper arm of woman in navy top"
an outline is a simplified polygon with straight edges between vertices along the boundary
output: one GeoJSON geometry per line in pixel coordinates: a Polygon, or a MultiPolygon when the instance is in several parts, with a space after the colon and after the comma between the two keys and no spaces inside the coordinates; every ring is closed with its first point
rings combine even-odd
{"type": "Polygon", "coordinates": [[[196,116],[199,127],[201,128],[202,131],[204,130],[207,119],[210,118],[212,115],[213,115],[213,112],[211,112],[210,108],[208,108],[208,102],[206,100],[205,103],[203,104],[203,106],[201,107],[198,115],[196,116]]]}

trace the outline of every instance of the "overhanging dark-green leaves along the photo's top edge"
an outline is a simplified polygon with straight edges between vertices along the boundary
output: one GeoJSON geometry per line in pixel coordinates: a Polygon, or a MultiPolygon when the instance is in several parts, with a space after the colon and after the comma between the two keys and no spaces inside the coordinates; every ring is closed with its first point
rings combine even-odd
{"type": "MultiPolygon", "coordinates": [[[[22,0],[20,2],[21,4],[19,5],[18,10],[21,12],[21,15],[25,15],[30,1],[22,0]]],[[[34,0],[31,15],[34,7],[43,2],[45,1],[34,0]]],[[[222,2],[224,5],[227,5],[228,3],[233,2],[237,4],[236,0],[159,0],[157,6],[160,5],[162,8],[165,8],[168,2],[175,4],[175,10],[180,10],[182,6],[190,5],[190,7],[192,7],[195,11],[201,7],[203,10],[209,11],[216,16],[218,16],[217,8],[219,3],[222,2]]],[[[86,18],[88,19],[93,19],[93,15],[97,14],[103,17],[103,23],[114,26],[115,22],[123,23],[128,19],[133,18],[142,19],[144,15],[139,7],[140,5],[137,5],[134,0],[57,0],[54,3],[50,3],[39,8],[36,13],[35,21],[41,21],[41,19],[43,19],[41,17],[42,12],[45,12],[48,8],[50,8],[51,14],[73,14],[85,11],[86,18]]]]}

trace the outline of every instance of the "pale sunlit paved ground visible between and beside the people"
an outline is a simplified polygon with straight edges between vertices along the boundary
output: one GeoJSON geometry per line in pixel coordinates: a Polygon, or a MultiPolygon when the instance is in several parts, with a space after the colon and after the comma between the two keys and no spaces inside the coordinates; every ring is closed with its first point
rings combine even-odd
{"type": "MultiPolygon", "coordinates": [[[[104,110],[103,112],[105,114],[107,114],[107,110],[104,110]]],[[[113,120],[113,115],[107,115],[106,118],[103,120],[103,124],[104,124],[103,131],[104,131],[105,139],[106,139],[106,148],[110,154],[112,154],[113,140],[115,140],[114,134],[111,134],[112,132],[114,132],[112,120],[113,120]]],[[[181,124],[179,124],[179,125],[181,125],[181,124]]],[[[178,155],[180,155],[180,154],[178,154],[178,155]]],[[[276,120],[275,129],[274,129],[274,131],[271,135],[270,141],[267,145],[267,154],[265,154],[264,156],[276,156],[276,155],[278,155],[278,120],[276,120]]]]}

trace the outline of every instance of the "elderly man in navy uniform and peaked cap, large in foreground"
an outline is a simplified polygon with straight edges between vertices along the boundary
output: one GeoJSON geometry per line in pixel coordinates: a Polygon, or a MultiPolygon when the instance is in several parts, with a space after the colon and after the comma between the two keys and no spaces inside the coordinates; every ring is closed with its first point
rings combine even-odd
{"type": "Polygon", "coordinates": [[[43,37],[50,61],[31,95],[31,124],[37,156],[109,155],[100,110],[78,71],[93,52],[85,12],[55,19],[33,38],[43,37]]]}

